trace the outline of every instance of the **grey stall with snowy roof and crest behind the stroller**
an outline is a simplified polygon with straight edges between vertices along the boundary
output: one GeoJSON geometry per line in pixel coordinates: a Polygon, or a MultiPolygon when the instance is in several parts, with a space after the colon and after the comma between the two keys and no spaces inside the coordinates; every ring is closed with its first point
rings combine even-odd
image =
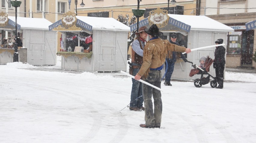
{"type": "MultiPolygon", "coordinates": [[[[176,41],[180,46],[190,49],[215,45],[217,39],[224,39],[223,43],[226,44],[227,32],[234,31],[231,27],[206,16],[168,14],[167,10],[160,8],[152,10],[146,19],[139,21],[139,27],[146,26],[149,28],[152,24],[157,24],[159,30],[163,32],[164,36],[161,38],[170,40],[170,35],[176,33],[178,35],[176,41]]],[[[130,26],[131,31],[136,29],[137,23],[130,26]]],[[[187,60],[198,65],[202,56],[209,56],[214,59],[214,51],[215,47],[196,50],[186,55],[187,60]]],[[[200,78],[200,75],[189,76],[192,68],[191,64],[178,59],[171,79],[191,80],[200,78]]],[[[162,73],[165,73],[165,69],[162,70],[162,73]]],[[[209,73],[215,75],[213,67],[210,68],[209,73]]]]}

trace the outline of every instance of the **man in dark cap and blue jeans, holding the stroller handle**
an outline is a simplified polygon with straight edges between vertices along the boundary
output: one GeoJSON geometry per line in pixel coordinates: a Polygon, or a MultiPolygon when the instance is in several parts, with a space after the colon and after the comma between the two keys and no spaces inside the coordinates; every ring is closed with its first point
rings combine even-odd
{"type": "MultiPolygon", "coordinates": [[[[180,46],[180,44],[178,42],[176,42],[177,40],[177,34],[173,33],[171,35],[171,40],[169,41],[172,44],[178,45],[180,46]]],[[[174,51],[168,51],[167,55],[166,55],[166,61],[167,61],[167,71],[166,71],[166,75],[165,75],[165,81],[164,81],[164,85],[169,85],[172,86],[171,82],[171,77],[172,77],[172,73],[174,70],[174,64],[177,61],[177,52],[174,51]]],[[[186,57],[182,54],[179,53],[181,58],[186,61],[186,57]]]]}

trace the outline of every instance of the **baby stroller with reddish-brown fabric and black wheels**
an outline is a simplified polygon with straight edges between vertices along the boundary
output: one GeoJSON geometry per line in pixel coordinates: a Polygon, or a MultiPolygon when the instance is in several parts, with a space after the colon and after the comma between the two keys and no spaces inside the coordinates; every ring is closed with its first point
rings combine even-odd
{"type": "Polygon", "coordinates": [[[191,61],[187,61],[189,63],[192,64],[192,66],[194,67],[194,69],[191,69],[189,76],[192,77],[195,74],[201,75],[200,79],[195,79],[194,80],[194,85],[195,87],[201,87],[202,85],[208,84],[210,81],[210,77],[212,77],[213,79],[210,82],[210,85],[212,88],[215,88],[217,86],[217,80],[216,77],[213,77],[212,75],[210,75],[208,72],[210,71],[210,66],[213,63],[213,59],[209,58],[209,56],[206,57],[206,61],[205,61],[205,67],[200,68],[198,67],[196,64],[194,64],[191,61]],[[203,75],[207,74],[207,77],[204,77],[203,75]]]}

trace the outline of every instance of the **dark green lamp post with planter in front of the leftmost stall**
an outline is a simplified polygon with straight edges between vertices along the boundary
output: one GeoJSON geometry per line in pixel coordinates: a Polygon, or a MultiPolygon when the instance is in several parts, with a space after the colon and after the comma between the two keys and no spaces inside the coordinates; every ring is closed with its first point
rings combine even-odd
{"type": "Polygon", "coordinates": [[[18,44],[17,44],[17,7],[20,7],[21,1],[11,1],[11,5],[15,7],[15,44],[14,44],[14,54],[13,54],[13,62],[19,62],[19,53],[18,53],[18,44]]]}

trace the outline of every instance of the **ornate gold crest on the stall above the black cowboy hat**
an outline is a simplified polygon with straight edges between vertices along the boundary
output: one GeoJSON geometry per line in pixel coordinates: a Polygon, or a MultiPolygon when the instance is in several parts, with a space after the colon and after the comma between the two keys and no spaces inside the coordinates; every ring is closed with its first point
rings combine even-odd
{"type": "Polygon", "coordinates": [[[149,25],[156,24],[159,28],[165,27],[169,21],[167,14],[167,10],[161,10],[159,7],[156,10],[150,11],[148,17],[149,25]]]}

